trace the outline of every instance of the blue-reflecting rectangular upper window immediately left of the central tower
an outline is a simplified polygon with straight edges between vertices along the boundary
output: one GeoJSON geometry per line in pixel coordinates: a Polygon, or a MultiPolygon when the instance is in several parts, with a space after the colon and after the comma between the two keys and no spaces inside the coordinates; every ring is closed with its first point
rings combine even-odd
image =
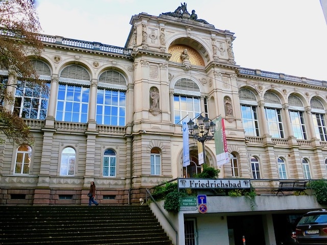
{"type": "Polygon", "coordinates": [[[98,89],[97,124],[125,126],[126,92],[98,89]]]}

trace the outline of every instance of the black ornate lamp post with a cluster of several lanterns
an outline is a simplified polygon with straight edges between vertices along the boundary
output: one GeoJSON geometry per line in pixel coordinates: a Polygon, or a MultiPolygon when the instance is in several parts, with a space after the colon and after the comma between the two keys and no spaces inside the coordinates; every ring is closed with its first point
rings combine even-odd
{"type": "Polygon", "coordinates": [[[198,125],[190,119],[188,127],[192,137],[202,143],[203,163],[205,164],[205,148],[204,142],[214,138],[216,124],[207,116],[201,114],[197,117],[198,125]]]}

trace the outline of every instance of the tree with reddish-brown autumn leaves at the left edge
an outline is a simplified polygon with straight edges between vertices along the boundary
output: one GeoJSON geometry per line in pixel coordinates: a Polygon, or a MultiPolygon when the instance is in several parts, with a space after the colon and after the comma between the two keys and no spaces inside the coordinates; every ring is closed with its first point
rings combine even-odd
{"type": "Polygon", "coordinates": [[[0,73],[0,143],[6,138],[13,144],[33,142],[24,120],[13,113],[13,103],[16,90],[46,88],[30,62],[42,51],[38,38],[41,27],[34,4],[35,0],[0,0],[0,70],[9,73],[9,77],[0,73]],[[10,75],[16,79],[10,79],[10,75]]]}

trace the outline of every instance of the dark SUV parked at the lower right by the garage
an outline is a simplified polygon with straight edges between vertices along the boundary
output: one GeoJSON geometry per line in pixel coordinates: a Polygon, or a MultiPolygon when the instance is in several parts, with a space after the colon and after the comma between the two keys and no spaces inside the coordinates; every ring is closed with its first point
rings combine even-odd
{"type": "Polygon", "coordinates": [[[327,244],[327,211],[310,211],[303,215],[296,226],[296,240],[299,244],[327,244]]]}

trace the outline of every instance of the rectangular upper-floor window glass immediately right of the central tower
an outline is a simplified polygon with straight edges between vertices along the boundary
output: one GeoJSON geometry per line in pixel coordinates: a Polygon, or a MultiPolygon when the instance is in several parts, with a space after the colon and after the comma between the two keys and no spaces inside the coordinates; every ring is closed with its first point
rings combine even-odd
{"type": "Polygon", "coordinates": [[[241,105],[242,120],[247,136],[260,136],[258,114],[255,106],[241,105]]]}

